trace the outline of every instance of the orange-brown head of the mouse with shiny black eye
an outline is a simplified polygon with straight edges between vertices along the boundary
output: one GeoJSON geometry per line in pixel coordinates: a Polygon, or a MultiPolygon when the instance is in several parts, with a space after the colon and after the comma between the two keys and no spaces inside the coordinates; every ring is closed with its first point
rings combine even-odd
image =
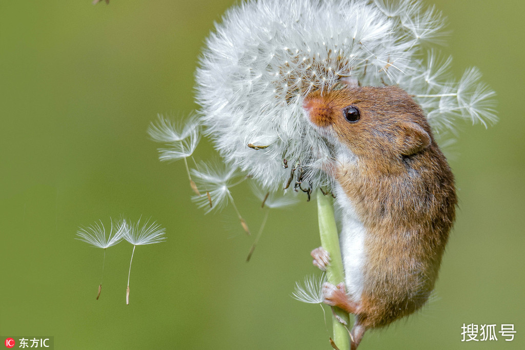
{"type": "Polygon", "coordinates": [[[433,141],[422,110],[394,86],[313,91],[303,109],[320,135],[360,157],[400,159],[433,141]]]}

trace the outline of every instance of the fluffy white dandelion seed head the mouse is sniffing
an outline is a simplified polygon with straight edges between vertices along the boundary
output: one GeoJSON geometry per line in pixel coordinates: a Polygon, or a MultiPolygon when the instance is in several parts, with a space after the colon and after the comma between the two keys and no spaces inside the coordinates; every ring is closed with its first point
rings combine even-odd
{"type": "MultiPolygon", "coordinates": [[[[224,162],[265,191],[290,177],[283,158],[300,164],[313,188],[330,189],[333,179],[322,169],[333,147],[303,116],[302,101],[313,90],[349,77],[363,86],[396,84],[416,96],[438,131],[458,118],[495,120],[493,92],[477,70],[457,82],[450,59],[432,50],[427,56],[426,45],[442,40],[444,26],[438,10],[415,0],[241,3],[206,40],[196,71],[199,122],[224,162]]],[[[215,191],[219,202],[227,200],[228,192],[215,191]]]]}

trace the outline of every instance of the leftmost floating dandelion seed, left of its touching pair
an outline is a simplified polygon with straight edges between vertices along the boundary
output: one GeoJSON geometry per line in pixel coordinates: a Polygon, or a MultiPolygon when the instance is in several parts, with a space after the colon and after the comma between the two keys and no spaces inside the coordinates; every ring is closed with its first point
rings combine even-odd
{"type": "Polygon", "coordinates": [[[77,238],[83,242],[89,243],[93,247],[104,249],[104,257],[102,259],[102,273],[100,277],[100,284],[98,287],[97,300],[100,298],[100,293],[102,292],[102,278],[104,277],[104,264],[106,263],[106,248],[116,245],[122,240],[123,232],[125,227],[119,225],[118,229],[113,227],[113,220],[111,220],[111,229],[109,234],[106,235],[106,229],[100,221],[88,227],[80,227],[77,231],[77,238]]]}

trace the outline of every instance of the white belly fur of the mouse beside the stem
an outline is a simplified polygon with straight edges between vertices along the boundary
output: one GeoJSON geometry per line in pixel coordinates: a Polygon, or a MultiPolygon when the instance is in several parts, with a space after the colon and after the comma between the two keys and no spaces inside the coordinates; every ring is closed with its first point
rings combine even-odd
{"type": "Polygon", "coordinates": [[[340,219],[339,242],[345,274],[346,293],[359,302],[363,292],[363,266],[366,259],[366,229],[355,214],[354,206],[339,184],[335,185],[335,203],[340,219]]]}

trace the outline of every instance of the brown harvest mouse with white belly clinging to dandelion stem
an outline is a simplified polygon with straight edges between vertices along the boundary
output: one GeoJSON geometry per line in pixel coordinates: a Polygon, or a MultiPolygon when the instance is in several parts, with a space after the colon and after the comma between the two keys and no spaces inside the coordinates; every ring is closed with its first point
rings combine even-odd
{"type": "MultiPolygon", "coordinates": [[[[345,281],[325,283],[324,302],[355,315],[364,332],[419,309],[434,289],[455,219],[454,176],[425,115],[401,88],[313,91],[303,102],[334,147],[331,176],[345,281]]],[[[312,251],[324,268],[327,252],[312,251]]]]}

